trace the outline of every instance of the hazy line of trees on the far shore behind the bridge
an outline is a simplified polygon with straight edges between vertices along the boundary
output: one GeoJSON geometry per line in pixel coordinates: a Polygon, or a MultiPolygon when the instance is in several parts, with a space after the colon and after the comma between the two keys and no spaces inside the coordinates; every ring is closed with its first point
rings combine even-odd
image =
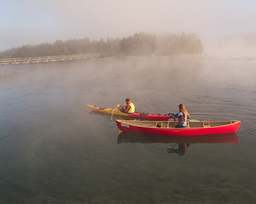
{"type": "Polygon", "coordinates": [[[28,58],[82,53],[107,53],[108,55],[193,55],[203,53],[203,44],[195,33],[135,33],[127,38],[89,38],[23,45],[0,53],[0,58],[28,58]]]}

